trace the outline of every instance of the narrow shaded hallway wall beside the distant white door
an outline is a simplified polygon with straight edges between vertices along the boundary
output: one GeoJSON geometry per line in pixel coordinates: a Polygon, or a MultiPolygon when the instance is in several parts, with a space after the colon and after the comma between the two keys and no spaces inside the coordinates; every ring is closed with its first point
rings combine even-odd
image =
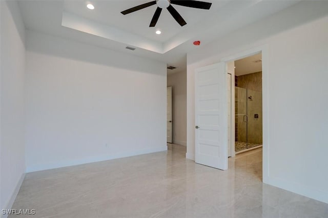
{"type": "Polygon", "coordinates": [[[187,71],[168,75],[172,86],[173,143],[187,145],[187,71]]]}

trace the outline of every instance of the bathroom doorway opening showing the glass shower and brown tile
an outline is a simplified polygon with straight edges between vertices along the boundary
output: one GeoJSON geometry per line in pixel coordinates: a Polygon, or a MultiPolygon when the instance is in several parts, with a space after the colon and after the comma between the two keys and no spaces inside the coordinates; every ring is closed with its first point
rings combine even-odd
{"type": "Polygon", "coordinates": [[[236,154],[262,147],[262,54],[234,61],[236,154]]]}

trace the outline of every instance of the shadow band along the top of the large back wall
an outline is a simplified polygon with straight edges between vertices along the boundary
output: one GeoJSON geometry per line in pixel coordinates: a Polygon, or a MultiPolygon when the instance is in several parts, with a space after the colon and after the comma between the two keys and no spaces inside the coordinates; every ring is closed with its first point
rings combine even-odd
{"type": "Polygon", "coordinates": [[[26,45],[27,51],[36,53],[166,76],[166,74],[162,73],[163,71],[166,72],[166,63],[162,63],[163,69],[158,70],[158,64],[160,64],[160,62],[156,60],[152,60],[150,63],[148,58],[79,43],[71,39],[50,36],[28,30],[26,45]]]}

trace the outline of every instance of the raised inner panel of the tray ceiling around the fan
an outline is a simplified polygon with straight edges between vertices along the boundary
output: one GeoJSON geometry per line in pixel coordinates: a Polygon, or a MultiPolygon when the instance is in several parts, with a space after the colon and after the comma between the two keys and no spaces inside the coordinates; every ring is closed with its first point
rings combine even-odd
{"type": "MultiPolygon", "coordinates": [[[[225,1],[219,1],[213,4],[211,10],[202,10],[188,8],[179,5],[173,7],[186,19],[187,26],[181,27],[171,16],[171,14],[163,9],[155,27],[150,28],[149,24],[153,14],[157,8],[156,5],[144,8],[133,13],[122,15],[120,12],[132,8],[137,5],[144,4],[150,0],[137,1],[92,1],[95,6],[94,10],[86,8],[85,1],[65,1],[64,10],[75,15],[91,19],[92,21],[112,26],[129,33],[137,34],[148,38],[152,41],[165,43],[173,36],[194,26],[197,22],[205,17],[213,15],[220,7],[227,4],[225,1]],[[110,11],[109,11],[110,9],[110,11]],[[195,15],[197,14],[197,15],[195,15]],[[155,34],[156,30],[161,30],[162,34],[155,34]]],[[[205,0],[207,1],[207,0],[205,0]]],[[[213,2],[209,0],[208,2],[213,2]]]]}

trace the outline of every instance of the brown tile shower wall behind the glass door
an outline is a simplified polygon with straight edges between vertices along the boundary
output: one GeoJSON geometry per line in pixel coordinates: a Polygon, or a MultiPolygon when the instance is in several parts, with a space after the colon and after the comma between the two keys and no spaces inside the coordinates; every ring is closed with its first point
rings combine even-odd
{"type": "Polygon", "coordinates": [[[236,119],[235,141],[246,142],[248,135],[249,144],[262,144],[262,72],[238,76],[235,85],[240,87],[235,89],[235,113],[246,114],[245,105],[248,103],[249,115],[248,128],[242,117],[236,119]],[[255,114],[258,114],[258,118],[255,118],[255,114]]]}

